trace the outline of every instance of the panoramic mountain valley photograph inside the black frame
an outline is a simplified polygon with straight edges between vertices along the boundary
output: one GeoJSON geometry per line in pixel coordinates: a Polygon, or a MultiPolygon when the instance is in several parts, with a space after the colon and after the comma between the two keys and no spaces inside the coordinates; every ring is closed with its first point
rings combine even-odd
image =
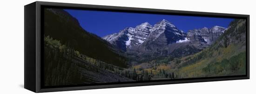
{"type": "Polygon", "coordinates": [[[45,8],[44,86],[246,75],[246,20],[45,8]]]}

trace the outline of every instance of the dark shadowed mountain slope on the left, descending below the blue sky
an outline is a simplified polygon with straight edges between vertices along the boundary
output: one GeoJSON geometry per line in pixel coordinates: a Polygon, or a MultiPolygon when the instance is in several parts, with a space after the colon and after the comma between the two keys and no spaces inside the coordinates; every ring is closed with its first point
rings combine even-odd
{"type": "Polygon", "coordinates": [[[45,36],[61,40],[61,44],[74,48],[81,54],[126,67],[126,58],[105,40],[82,29],[78,21],[63,9],[45,9],[44,29],[45,36]]]}

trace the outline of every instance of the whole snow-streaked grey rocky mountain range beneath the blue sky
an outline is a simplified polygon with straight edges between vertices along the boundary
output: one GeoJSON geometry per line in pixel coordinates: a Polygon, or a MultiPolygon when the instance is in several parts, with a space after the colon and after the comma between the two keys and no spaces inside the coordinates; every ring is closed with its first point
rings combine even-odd
{"type": "Polygon", "coordinates": [[[136,57],[166,56],[171,55],[173,51],[186,51],[181,55],[173,54],[179,57],[194,54],[209,47],[226,29],[220,26],[203,27],[185,33],[168,20],[163,19],[154,26],[144,22],[135,28],[126,27],[119,33],[109,34],[102,39],[126,54],[136,57]]]}

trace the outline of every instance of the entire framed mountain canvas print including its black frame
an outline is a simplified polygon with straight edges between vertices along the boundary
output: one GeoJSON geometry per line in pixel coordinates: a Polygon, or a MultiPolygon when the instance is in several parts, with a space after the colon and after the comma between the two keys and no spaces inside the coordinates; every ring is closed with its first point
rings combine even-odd
{"type": "Polygon", "coordinates": [[[249,15],[34,2],[25,88],[52,92],[249,79],[249,15]]]}

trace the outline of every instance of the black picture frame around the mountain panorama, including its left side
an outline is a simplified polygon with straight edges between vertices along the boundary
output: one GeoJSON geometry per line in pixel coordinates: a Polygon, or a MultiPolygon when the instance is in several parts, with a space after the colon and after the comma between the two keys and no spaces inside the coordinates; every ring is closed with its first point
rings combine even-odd
{"type": "Polygon", "coordinates": [[[192,11],[177,11],[164,9],[148,9],[134,7],[113,7],[113,6],[98,6],[85,4],[70,4],[70,3],[55,3],[36,1],[24,7],[24,87],[36,93],[67,91],[67,90],[84,90],[97,88],[112,88],[112,87],[134,87],[148,85],[163,85],[176,83],[191,83],[191,82],[206,82],[206,81],[227,81],[227,80],[242,80],[249,79],[249,15],[243,14],[228,14],[228,13],[206,13],[192,11]],[[175,80],[161,81],[144,81],[144,82],[120,82],[93,84],[90,86],[66,86],[66,87],[44,87],[42,85],[42,69],[43,69],[43,28],[42,28],[42,9],[44,7],[72,8],[72,9],[90,9],[102,11],[117,11],[117,12],[133,12],[133,13],[157,13],[157,14],[175,14],[203,17],[221,17],[221,18],[239,18],[246,20],[246,75],[240,76],[222,76],[222,77],[205,77],[205,78],[187,78],[175,80]]]}

